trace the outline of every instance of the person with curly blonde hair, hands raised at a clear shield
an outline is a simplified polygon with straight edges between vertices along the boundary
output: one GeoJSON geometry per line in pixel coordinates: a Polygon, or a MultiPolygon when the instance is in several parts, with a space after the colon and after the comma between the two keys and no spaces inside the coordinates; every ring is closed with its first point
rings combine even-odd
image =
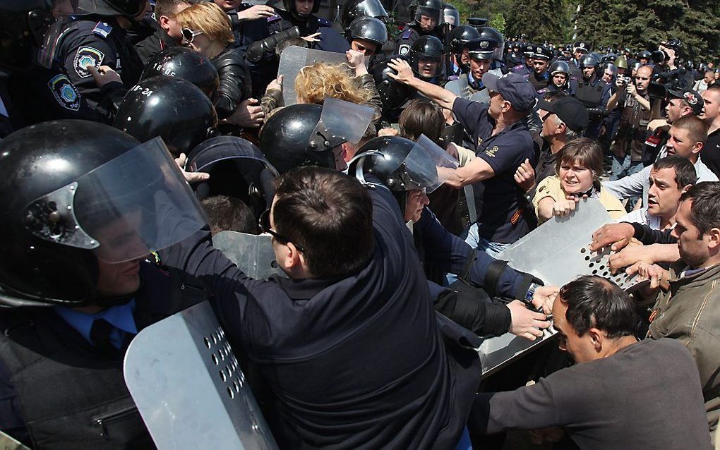
{"type": "MultiPolygon", "coordinates": [[[[346,56],[347,64],[314,63],[300,69],[295,78],[297,103],[323,104],[327,97],[332,97],[364,104],[375,109],[373,121],[377,121],[382,113],[382,103],[374,79],[363,63],[363,54],[348,50],[346,56]]],[[[272,81],[265,91],[262,99],[265,114],[270,114],[281,103],[282,76],[272,81]]]]}

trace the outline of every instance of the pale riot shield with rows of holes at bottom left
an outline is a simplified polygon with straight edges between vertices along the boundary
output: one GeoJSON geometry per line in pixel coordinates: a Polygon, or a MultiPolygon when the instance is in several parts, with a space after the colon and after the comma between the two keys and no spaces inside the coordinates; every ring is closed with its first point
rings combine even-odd
{"type": "Polygon", "coordinates": [[[210,303],[140,331],[125,383],[158,449],[276,449],[210,303]]]}

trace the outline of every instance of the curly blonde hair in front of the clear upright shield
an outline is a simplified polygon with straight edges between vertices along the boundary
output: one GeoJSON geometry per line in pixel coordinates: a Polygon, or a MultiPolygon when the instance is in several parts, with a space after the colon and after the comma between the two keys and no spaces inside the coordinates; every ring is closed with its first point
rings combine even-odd
{"type": "Polygon", "coordinates": [[[314,104],[323,104],[326,97],[356,104],[367,104],[371,98],[370,91],[361,88],[344,64],[303,67],[295,78],[295,92],[302,102],[314,104]]]}

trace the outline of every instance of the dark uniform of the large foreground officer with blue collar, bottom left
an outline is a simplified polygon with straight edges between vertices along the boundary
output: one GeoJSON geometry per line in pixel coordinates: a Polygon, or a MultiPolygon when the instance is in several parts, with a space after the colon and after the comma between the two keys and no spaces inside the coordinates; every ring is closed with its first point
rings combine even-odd
{"type": "MultiPolygon", "coordinates": [[[[199,280],[167,270],[140,264],[142,287],[126,302],[137,330],[205,300],[199,280]]],[[[33,448],[155,448],[122,373],[129,333],[110,347],[59,307],[6,310],[0,328],[2,431],[33,448]]]]}

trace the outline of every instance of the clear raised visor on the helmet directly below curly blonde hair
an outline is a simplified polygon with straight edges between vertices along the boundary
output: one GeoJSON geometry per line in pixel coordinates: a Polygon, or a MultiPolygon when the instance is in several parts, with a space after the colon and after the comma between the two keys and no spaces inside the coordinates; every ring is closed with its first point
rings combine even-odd
{"type": "Polygon", "coordinates": [[[310,136],[310,146],[315,150],[327,150],[341,143],[360,142],[374,113],[371,107],[326,98],[320,121],[310,136]]]}

